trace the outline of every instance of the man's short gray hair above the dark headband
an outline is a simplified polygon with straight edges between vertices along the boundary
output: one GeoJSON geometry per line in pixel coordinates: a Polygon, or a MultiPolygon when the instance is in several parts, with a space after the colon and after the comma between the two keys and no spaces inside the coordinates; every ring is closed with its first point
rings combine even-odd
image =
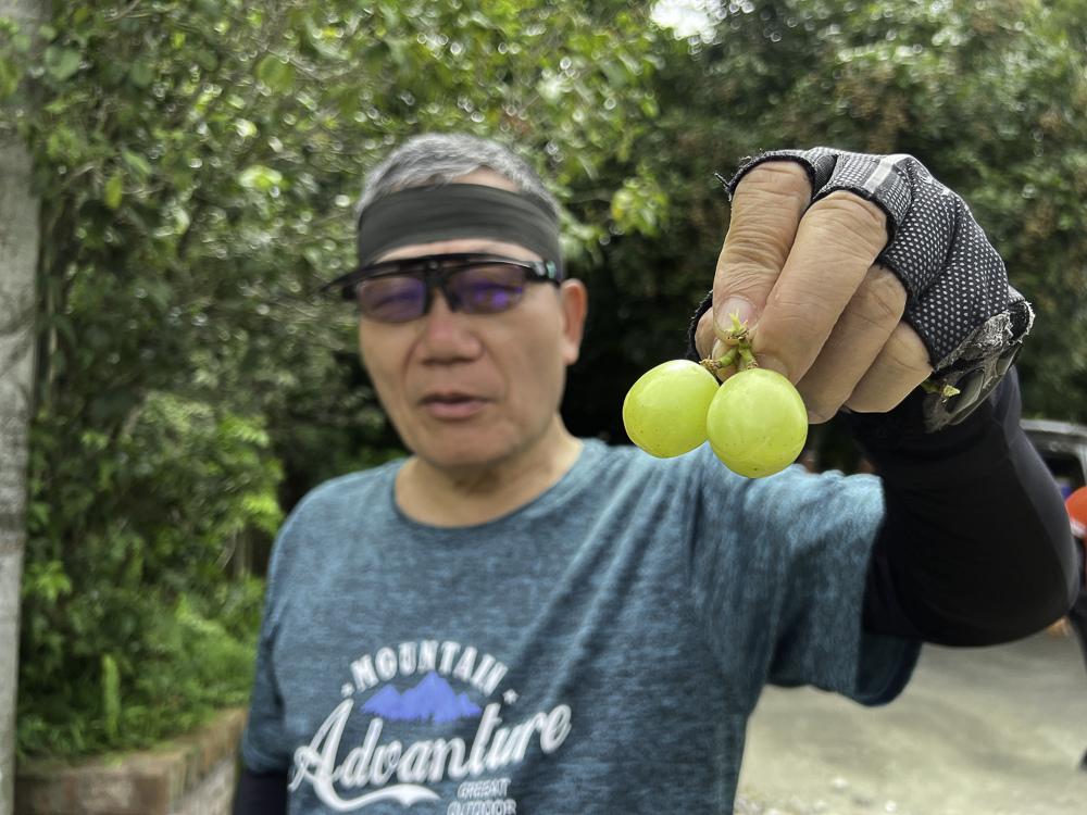
{"type": "Polygon", "coordinates": [[[463,134],[423,134],[398,147],[366,176],[355,216],[376,199],[397,190],[449,184],[477,170],[492,170],[521,192],[544,204],[555,221],[559,201],[532,165],[497,141],[463,134]]]}

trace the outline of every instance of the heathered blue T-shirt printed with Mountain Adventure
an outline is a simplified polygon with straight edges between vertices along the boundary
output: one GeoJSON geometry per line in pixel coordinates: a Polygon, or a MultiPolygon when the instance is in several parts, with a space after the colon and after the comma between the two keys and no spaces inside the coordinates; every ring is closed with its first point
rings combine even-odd
{"type": "Polygon", "coordinates": [[[242,756],[289,770],[291,815],[729,813],[766,682],[880,704],[916,661],[861,629],[874,477],[586,440],[447,528],[398,509],[400,465],[318,487],[275,546],[242,756]]]}

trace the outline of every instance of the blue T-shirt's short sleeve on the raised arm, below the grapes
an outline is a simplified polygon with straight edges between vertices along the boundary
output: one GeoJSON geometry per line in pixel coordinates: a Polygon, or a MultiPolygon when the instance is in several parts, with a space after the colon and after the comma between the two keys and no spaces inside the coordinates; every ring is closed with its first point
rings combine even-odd
{"type": "Polygon", "coordinates": [[[733,475],[707,457],[691,580],[735,686],[752,706],[766,684],[811,685],[869,705],[892,700],[921,643],[862,630],[884,516],[879,480],[790,467],[723,488],[733,475]]]}

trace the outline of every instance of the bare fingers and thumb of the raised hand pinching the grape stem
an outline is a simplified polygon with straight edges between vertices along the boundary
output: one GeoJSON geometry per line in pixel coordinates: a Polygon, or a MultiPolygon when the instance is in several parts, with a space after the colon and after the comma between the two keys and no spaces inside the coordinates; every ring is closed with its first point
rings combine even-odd
{"type": "Polygon", "coordinates": [[[759,364],[797,386],[811,423],[842,405],[889,411],[928,378],[932,362],[902,321],[904,286],[875,262],[887,243],[887,215],[845,190],[811,199],[797,162],[767,161],[742,177],[713,308],[696,331],[698,352],[724,355],[721,339],[737,314],[759,364]]]}

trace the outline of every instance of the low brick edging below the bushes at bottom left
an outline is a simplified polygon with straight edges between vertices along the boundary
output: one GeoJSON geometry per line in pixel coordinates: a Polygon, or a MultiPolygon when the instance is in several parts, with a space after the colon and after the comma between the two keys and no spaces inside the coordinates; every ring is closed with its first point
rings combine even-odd
{"type": "Polygon", "coordinates": [[[220,711],[208,725],[155,748],[70,766],[34,761],[15,773],[14,815],[170,815],[237,753],[246,711],[220,711]]]}

